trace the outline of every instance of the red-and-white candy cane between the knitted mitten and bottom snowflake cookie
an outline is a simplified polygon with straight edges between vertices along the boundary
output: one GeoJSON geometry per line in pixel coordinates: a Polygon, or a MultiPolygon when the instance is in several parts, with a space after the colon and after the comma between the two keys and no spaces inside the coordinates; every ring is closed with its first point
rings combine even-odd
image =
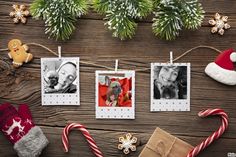
{"type": "Polygon", "coordinates": [[[90,133],[88,132],[88,130],[85,129],[85,127],[83,125],[78,124],[78,123],[71,123],[71,124],[67,125],[63,130],[62,143],[63,143],[64,149],[65,149],[65,152],[69,151],[68,150],[68,147],[69,147],[68,135],[69,135],[69,131],[73,128],[79,129],[82,132],[82,134],[86,138],[87,142],[89,143],[90,148],[92,149],[92,151],[96,157],[103,157],[102,152],[98,149],[95,141],[93,140],[93,138],[90,135],[90,133]]]}

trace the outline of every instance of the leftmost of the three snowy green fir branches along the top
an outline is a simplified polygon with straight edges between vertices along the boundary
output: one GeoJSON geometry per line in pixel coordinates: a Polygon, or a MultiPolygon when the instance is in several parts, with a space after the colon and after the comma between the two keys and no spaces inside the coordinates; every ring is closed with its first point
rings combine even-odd
{"type": "Polygon", "coordinates": [[[56,40],[68,40],[78,17],[88,9],[86,0],[34,0],[30,6],[33,18],[43,19],[45,33],[56,40]]]}

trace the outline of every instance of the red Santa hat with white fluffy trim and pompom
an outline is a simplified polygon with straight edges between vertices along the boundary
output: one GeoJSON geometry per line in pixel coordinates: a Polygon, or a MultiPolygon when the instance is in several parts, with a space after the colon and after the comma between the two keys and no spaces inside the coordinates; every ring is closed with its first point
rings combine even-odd
{"type": "Polygon", "coordinates": [[[236,71],[233,62],[236,62],[236,52],[233,49],[225,50],[214,62],[207,65],[205,73],[221,83],[236,85],[236,71]]]}

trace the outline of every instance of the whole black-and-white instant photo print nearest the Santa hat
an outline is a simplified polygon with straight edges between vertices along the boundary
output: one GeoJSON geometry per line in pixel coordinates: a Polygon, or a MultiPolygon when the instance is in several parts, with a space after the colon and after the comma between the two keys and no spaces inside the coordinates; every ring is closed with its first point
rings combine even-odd
{"type": "Polygon", "coordinates": [[[151,63],[151,111],[190,111],[190,63],[151,63]]]}

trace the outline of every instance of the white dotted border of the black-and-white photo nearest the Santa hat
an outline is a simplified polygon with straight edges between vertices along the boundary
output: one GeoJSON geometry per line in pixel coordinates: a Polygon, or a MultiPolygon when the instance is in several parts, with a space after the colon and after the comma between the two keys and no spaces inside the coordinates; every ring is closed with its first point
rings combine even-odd
{"type": "Polygon", "coordinates": [[[191,87],[190,63],[151,63],[151,104],[150,111],[190,111],[190,87],[191,87]],[[186,66],[187,67],[187,98],[186,99],[154,99],[154,67],[155,66],[186,66]]]}

